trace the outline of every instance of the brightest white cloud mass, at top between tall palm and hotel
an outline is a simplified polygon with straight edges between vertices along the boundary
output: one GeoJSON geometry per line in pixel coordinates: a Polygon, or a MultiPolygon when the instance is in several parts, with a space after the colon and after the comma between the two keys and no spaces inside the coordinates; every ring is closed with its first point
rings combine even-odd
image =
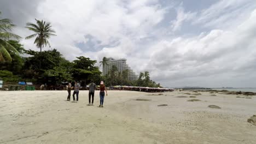
{"type": "MultiPolygon", "coordinates": [[[[42,19],[50,21],[57,32],[51,39],[53,47],[65,56],[76,52],[77,55],[90,55],[80,51],[75,43],[86,43],[84,35],[91,35],[100,41],[100,45],[109,45],[119,41],[115,47],[105,47],[98,53],[119,53],[129,55],[136,41],[147,37],[150,29],[157,25],[165,14],[165,9],[157,1],[45,1],[38,10],[42,19]],[[129,7],[127,7],[129,5],[129,7]],[[139,7],[137,9],[136,7],[139,7]]],[[[93,53],[93,52],[92,52],[93,53]]],[[[92,56],[95,57],[95,56],[92,56]]],[[[100,58],[97,56],[97,58],[100,58]]],[[[74,58],[71,58],[74,59],[74,58]]],[[[97,59],[99,60],[99,59],[97,59]]]]}

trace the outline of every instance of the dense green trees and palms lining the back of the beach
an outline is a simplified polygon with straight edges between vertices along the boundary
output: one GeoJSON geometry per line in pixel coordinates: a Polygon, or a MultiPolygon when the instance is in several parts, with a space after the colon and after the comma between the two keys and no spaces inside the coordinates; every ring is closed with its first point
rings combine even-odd
{"type": "MultiPolygon", "coordinates": [[[[62,82],[77,80],[85,86],[90,80],[97,85],[103,80],[106,86],[160,87],[159,83],[150,80],[148,71],[141,73],[137,81],[129,81],[129,71],[118,72],[115,66],[106,76],[102,76],[100,68],[95,66],[97,63],[95,60],[80,56],[69,62],[56,49],[42,51],[44,46],[50,45],[48,39],[55,35],[55,32],[49,22],[43,20],[36,22],[36,24],[27,23],[26,28],[35,33],[26,39],[36,37],[34,44],[40,49],[39,52],[24,49],[18,40],[14,40],[20,37],[10,33],[11,28],[14,27],[11,21],[0,20],[0,79],[4,82],[26,81],[57,86],[62,82]],[[24,54],[24,57],[20,54],[24,54]]],[[[100,63],[107,64],[107,58],[104,57],[100,63]]]]}

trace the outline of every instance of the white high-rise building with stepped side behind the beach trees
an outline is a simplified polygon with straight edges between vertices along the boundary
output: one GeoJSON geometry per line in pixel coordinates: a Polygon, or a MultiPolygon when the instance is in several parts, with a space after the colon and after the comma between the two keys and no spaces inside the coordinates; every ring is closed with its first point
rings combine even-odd
{"type": "Polygon", "coordinates": [[[115,65],[118,69],[118,72],[122,72],[123,70],[128,70],[128,79],[129,80],[137,80],[138,76],[136,73],[126,64],[126,59],[114,59],[112,57],[108,58],[107,64],[103,65],[102,74],[107,75],[108,71],[112,69],[113,65],[115,65]]]}

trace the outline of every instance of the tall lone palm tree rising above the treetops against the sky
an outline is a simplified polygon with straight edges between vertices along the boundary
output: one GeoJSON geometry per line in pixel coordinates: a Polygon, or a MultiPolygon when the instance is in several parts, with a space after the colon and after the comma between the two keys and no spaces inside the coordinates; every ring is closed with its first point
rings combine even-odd
{"type": "Polygon", "coordinates": [[[34,44],[37,45],[37,47],[40,49],[40,52],[42,52],[42,48],[46,46],[47,44],[50,46],[50,43],[48,39],[50,36],[55,36],[56,34],[55,31],[51,28],[51,23],[50,22],[45,22],[43,20],[39,21],[37,19],[36,24],[27,22],[26,28],[30,29],[31,31],[35,32],[34,34],[26,37],[25,39],[31,39],[36,37],[34,40],[34,44]]]}

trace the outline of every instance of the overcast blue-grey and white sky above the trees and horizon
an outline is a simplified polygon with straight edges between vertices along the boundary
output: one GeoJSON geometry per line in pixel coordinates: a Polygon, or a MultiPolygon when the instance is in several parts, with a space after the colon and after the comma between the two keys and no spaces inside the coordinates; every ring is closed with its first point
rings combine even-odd
{"type": "Polygon", "coordinates": [[[23,38],[26,22],[51,22],[51,48],[70,61],[126,58],[167,87],[256,87],[255,0],[1,0],[0,11],[23,38]]]}

